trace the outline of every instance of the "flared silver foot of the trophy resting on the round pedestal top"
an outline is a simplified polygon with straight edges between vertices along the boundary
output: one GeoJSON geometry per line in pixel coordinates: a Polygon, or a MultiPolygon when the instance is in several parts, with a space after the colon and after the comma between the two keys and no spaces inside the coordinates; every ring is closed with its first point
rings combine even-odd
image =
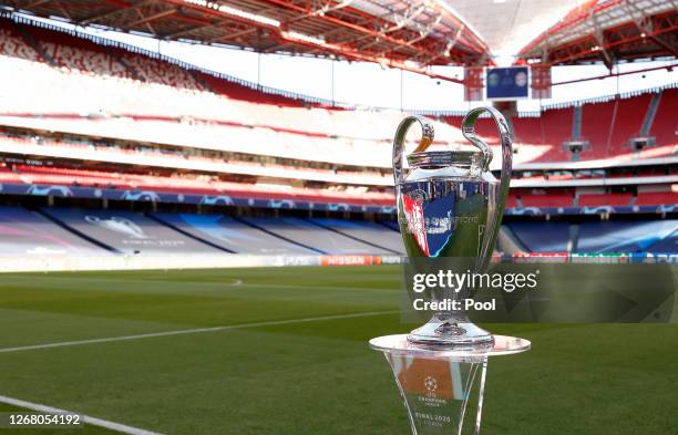
{"type": "Polygon", "coordinates": [[[494,345],[494,336],[465,317],[434,315],[427,324],[410,332],[408,341],[429,345],[479,348],[494,345]]]}

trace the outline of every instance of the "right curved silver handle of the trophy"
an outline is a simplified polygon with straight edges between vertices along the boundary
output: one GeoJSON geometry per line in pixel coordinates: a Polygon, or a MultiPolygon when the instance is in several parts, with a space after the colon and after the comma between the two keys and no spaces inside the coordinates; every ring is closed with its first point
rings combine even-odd
{"type": "Polygon", "coordinates": [[[511,132],[504,115],[502,115],[502,113],[494,107],[476,107],[464,116],[464,120],[462,121],[462,134],[469,142],[483,152],[485,156],[483,170],[489,170],[490,162],[492,162],[492,148],[490,148],[490,146],[487,146],[487,144],[485,144],[475,134],[475,122],[483,112],[487,112],[490,116],[492,116],[496,127],[499,128],[500,141],[502,143],[502,174],[500,177],[501,182],[499,190],[496,191],[496,197],[491,197],[490,201],[493,204],[487,205],[487,222],[485,224],[485,230],[483,231],[483,245],[480,252],[481,270],[485,270],[492,258],[492,251],[494,250],[494,244],[496,242],[496,236],[502,222],[502,216],[504,215],[506,196],[508,195],[513,162],[513,133],[511,132]]]}

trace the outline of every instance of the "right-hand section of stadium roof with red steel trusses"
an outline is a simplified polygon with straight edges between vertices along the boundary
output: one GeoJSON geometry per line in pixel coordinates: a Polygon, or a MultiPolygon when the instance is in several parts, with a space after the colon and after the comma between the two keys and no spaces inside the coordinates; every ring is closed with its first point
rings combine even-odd
{"type": "Polygon", "coordinates": [[[551,64],[678,58],[676,0],[589,0],[520,51],[551,64]]]}

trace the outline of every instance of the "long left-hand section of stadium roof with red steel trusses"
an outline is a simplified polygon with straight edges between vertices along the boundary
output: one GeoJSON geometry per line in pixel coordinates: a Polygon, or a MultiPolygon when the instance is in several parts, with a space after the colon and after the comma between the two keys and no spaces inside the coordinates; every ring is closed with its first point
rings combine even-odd
{"type": "MultiPolygon", "coordinates": [[[[487,45],[442,0],[13,0],[13,11],[260,52],[310,53],[424,72],[485,64],[487,45]]],[[[446,77],[444,77],[446,79],[446,77]]]]}

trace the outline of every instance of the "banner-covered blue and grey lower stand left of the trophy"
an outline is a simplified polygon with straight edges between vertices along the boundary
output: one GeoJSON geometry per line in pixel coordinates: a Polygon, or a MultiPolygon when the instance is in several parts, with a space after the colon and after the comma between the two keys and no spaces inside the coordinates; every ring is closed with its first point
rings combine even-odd
{"type": "Polygon", "coordinates": [[[400,236],[378,224],[218,214],[0,207],[0,255],[392,255],[400,236]],[[349,229],[339,234],[331,227],[349,229]],[[366,242],[361,242],[358,236],[366,242]],[[393,249],[380,248],[391,246],[393,249]]]}

